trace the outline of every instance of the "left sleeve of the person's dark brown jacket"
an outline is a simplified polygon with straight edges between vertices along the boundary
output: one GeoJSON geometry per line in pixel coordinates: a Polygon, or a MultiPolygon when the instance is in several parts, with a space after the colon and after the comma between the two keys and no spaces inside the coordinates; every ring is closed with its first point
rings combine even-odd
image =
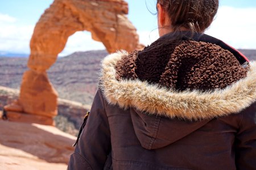
{"type": "Polygon", "coordinates": [[[104,102],[104,97],[98,90],[85,128],[69,160],[68,169],[104,169],[111,150],[109,123],[104,102]]]}

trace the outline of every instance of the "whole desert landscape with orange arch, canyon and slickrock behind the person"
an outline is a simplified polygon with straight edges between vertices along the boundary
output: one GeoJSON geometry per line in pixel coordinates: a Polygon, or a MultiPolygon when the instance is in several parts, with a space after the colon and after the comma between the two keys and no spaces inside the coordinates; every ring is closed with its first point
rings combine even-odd
{"type": "MultiPolygon", "coordinates": [[[[35,25],[31,53],[0,53],[0,169],[65,169],[109,53],[142,49],[123,0],[55,0],[35,25]],[[88,31],[105,50],[58,57],[88,31]],[[42,124],[41,124],[42,123],[42,124]]],[[[239,49],[251,61],[256,50],[239,49]]],[[[1,51],[0,51],[1,52],[1,51]]]]}

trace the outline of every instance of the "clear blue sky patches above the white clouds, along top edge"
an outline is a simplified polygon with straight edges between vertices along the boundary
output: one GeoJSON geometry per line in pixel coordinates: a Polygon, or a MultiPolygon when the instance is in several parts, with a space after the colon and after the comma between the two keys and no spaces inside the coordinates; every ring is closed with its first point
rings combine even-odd
{"type": "MultiPolygon", "coordinates": [[[[18,24],[35,24],[44,10],[51,5],[53,0],[0,0],[0,13],[8,14],[18,18],[18,24]]],[[[156,16],[148,12],[146,3],[150,11],[156,12],[155,0],[127,0],[129,3],[129,19],[140,30],[147,30],[145,25],[153,27],[156,16]],[[141,15],[143,14],[143,15],[141,15]],[[143,22],[142,22],[143,21],[143,22]],[[153,26],[152,26],[153,25],[153,26]]],[[[255,0],[222,0],[220,6],[230,7],[256,7],[255,0]]]]}

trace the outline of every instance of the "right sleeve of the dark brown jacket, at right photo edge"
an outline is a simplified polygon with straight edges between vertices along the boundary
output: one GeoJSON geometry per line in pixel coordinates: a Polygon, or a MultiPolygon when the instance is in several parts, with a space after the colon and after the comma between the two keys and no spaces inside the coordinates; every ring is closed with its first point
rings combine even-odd
{"type": "Polygon", "coordinates": [[[237,169],[256,169],[256,103],[243,111],[236,136],[237,169]]]}

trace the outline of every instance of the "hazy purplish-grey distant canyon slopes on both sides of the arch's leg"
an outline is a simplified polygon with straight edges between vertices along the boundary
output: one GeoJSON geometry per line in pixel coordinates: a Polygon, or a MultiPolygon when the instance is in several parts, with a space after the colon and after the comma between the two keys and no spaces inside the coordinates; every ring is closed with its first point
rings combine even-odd
{"type": "MultiPolygon", "coordinates": [[[[47,70],[53,87],[62,99],[92,104],[97,90],[101,60],[108,55],[106,50],[76,52],[59,57],[47,70]]],[[[22,75],[27,70],[24,57],[0,57],[0,86],[20,88],[22,75]]]]}

